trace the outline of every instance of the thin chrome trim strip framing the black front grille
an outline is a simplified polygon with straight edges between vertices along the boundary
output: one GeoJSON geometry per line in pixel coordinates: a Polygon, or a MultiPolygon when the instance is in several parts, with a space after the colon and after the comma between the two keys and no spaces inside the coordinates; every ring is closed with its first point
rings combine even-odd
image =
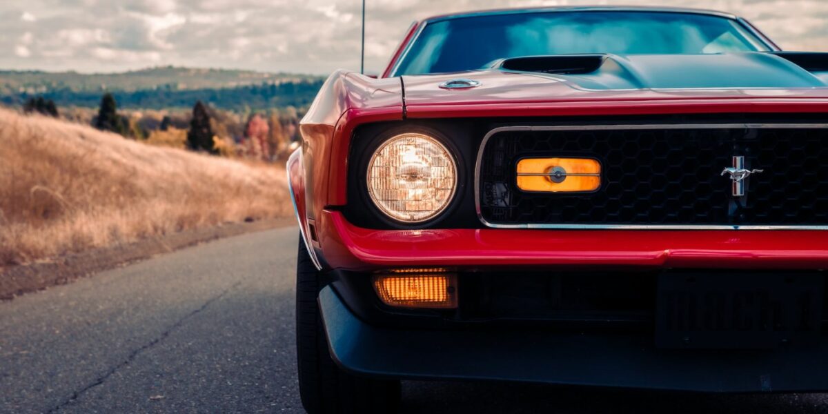
{"type": "Polygon", "coordinates": [[[506,131],[629,131],[647,129],[742,129],[742,128],[828,128],[828,123],[700,123],[643,125],[556,125],[549,127],[500,127],[486,133],[474,163],[474,209],[484,226],[492,229],[558,229],[558,230],[828,230],[828,226],[793,225],[728,225],[728,224],[493,224],[484,219],[480,208],[480,164],[489,138],[506,131]]]}

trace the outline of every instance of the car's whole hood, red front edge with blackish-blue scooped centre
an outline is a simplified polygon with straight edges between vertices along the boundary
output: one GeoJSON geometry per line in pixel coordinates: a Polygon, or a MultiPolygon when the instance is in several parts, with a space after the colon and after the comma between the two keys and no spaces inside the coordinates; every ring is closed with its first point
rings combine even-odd
{"type": "Polygon", "coordinates": [[[825,99],[828,54],[532,56],[501,60],[487,70],[406,75],[402,83],[407,106],[567,100],[825,99]],[[440,87],[452,79],[471,79],[479,86],[440,87]]]}

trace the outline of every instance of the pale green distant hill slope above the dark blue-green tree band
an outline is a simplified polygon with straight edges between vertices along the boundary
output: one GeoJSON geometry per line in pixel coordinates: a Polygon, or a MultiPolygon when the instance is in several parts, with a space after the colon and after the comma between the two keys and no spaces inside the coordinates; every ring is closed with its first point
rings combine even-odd
{"type": "Polygon", "coordinates": [[[0,70],[0,94],[42,94],[52,90],[132,92],[142,89],[222,89],[248,84],[318,80],[318,76],[273,74],[250,70],[156,67],[112,74],[0,70]]]}

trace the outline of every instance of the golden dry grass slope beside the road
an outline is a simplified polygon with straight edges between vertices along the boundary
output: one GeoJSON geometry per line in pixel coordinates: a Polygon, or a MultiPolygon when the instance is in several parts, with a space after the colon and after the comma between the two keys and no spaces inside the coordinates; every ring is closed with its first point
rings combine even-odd
{"type": "Polygon", "coordinates": [[[0,267],[290,209],[281,167],[0,109],[0,267]]]}

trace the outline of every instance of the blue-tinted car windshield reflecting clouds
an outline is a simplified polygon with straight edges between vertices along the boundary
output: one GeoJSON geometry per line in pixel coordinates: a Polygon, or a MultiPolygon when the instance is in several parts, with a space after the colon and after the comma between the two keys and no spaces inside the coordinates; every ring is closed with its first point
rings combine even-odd
{"type": "Polygon", "coordinates": [[[493,60],[583,53],[768,51],[739,22],[680,12],[527,12],[429,22],[394,75],[476,70],[493,60]]]}

